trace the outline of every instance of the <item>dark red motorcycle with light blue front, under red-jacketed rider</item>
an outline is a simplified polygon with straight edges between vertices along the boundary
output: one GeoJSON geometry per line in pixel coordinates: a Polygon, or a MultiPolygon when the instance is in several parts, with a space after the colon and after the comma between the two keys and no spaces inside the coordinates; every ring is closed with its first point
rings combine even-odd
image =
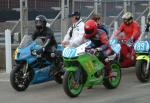
{"type": "Polygon", "coordinates": [[[121,68],[128,68],[136,64],[133,41],[124,39],[124,36],[118,36],[110,39],[110,45],[118,54],[118,61],[121,68]]]}

